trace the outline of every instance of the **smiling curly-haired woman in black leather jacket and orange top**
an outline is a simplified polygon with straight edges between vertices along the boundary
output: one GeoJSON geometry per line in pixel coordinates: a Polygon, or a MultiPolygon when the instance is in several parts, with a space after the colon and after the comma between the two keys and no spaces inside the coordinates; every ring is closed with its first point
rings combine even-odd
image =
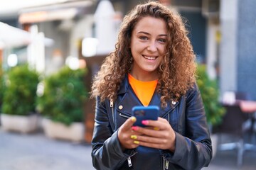
{"type": "Polygon", "coordinates": [[[181,17],[149,2],[136,6],[116,49],[92,84],[97,98],[96,169],[201,169],[212,147],[195,80],[195,55],[181,17]],[[133,126],[133,106],[159,106],[158,120],[133,126]]]}

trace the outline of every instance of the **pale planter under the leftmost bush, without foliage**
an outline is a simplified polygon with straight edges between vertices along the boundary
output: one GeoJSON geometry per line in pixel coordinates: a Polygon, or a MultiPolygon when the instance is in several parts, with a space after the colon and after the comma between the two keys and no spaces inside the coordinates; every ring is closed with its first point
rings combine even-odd
{"type": "Polygon", "coordinates": [[[38,115],[8,115],[1,113],[1,127],[7,131],[35,132],[38,130],[38,115]]]}

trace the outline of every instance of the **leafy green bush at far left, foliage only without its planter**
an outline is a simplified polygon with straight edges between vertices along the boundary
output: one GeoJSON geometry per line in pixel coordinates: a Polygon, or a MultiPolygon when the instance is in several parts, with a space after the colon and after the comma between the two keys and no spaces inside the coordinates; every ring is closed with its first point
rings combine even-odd
{"type": "Polygon", "coordinates": [[[2,113],[29,115],[36,110],[38,73],[27,64],[18,65],[4,72],[2,113]]]}

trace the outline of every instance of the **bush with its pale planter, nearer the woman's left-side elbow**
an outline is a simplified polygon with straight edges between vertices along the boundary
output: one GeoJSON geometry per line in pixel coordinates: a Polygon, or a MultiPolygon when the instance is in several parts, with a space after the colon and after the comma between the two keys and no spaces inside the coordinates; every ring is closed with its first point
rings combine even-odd
{"type": "Polygon", "coordinates": [[[43,94],[37,99],[37,110],[44,117],[46,136],[74,142],[83,140],[86,72],[86,69],[63,67],[44,79],[43,94]]]}

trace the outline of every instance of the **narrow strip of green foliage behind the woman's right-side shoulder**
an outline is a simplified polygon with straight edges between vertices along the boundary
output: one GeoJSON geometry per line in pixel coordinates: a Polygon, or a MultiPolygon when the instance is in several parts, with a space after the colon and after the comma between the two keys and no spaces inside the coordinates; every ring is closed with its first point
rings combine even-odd
{"type": "Polygon", "coordinates": [[[213,126],[218,125],[225,114],[225,108],[218,101],[219,90],[217,81],[208,77],[206,66],[203,64],[198,64],[197,76],[197,84],[203,98],[207,121],[213,126]]]}

